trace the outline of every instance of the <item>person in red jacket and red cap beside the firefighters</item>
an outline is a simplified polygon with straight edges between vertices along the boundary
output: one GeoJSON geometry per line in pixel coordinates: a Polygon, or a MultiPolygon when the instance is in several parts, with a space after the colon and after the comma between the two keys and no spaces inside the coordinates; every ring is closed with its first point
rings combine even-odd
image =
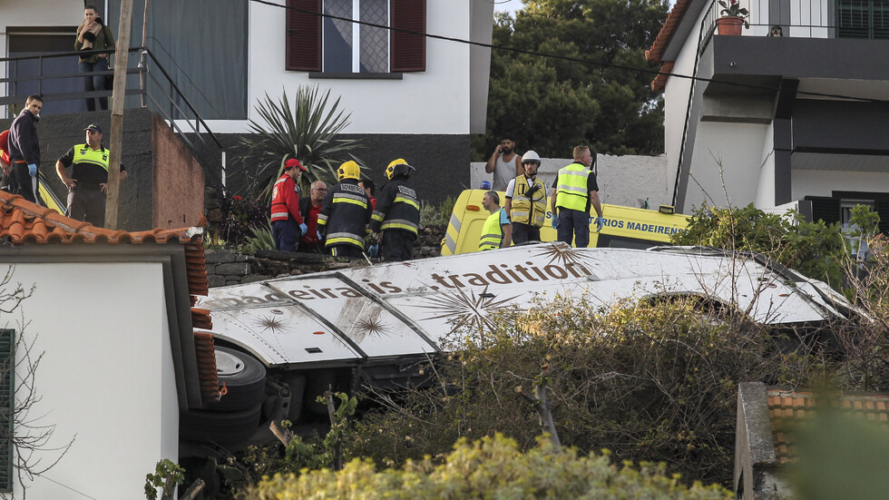
{"type": "Polygon", "coordinates": [[[296,251],[299,237],[308,230],[299,213],[299,175],[306,172],[296,158],[284,162],[284,173],[271,191],[271,234],[275,249],[296,251]]]}

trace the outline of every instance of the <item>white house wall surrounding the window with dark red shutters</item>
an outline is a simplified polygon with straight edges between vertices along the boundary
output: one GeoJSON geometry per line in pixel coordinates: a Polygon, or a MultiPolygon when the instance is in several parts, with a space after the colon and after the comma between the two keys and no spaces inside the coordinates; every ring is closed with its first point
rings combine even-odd
{"type": "MultiPolygon", "coordinates": [[[[464,40],[471,36],[472,1],[433,0],[426,4],[426,30],[464,40]]],[[[307,72],[285,71],[285,14],[279,7],[249,4],[249,118],[265,93],[318,85],[341,97],[351,113],[347,133],[465,134],[470,130],[470,46],[426,40],[426,71],[403,80],[309,79],[307,72]]],[[[491,21],[493,23],[493,19],[491,21]]],[[[210,122],[213,132],[246,131],[244,122],[210,122]]]]}

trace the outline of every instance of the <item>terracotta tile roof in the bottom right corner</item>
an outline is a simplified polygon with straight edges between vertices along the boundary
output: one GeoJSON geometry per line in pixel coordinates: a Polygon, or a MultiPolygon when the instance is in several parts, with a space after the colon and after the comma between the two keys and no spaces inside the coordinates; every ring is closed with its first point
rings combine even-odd
{"type": "Polygon", "coordinates": [[[775,458],[781,464],[796,460],[796,444],[790,427],[813,417],[818,406],[828,404],[856,418],[889,424],[889,394],[844,394],[824,401],[816,400],[812,392],[768,387],[766,395],[775,458]]]}

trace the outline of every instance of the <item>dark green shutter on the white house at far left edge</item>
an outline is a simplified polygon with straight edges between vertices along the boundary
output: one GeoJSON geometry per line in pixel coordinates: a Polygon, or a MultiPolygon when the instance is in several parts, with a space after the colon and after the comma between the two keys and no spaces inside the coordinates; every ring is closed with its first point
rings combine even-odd
{"type": "Polygon", "coordinates": [[[15,330],[0,329],[0,492],[13,491],[15,330]]]}

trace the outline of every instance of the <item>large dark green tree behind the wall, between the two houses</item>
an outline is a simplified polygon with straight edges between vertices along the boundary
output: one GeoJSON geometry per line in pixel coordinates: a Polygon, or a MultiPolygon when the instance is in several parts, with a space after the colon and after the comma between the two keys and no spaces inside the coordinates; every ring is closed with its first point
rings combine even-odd
{"type": "Polygon", "coordinates": [[[596,152],[663,152],[663,99],[650,88],[658,70],[645,60],[667,15],[666,0],[530,0],[513,19],[499,14],[488,92],[487,134],[474,159],[513,136],[519,151],[564,157],[584,143],[596,152]],[[624,66],[624,67],[616,67],[624,66]],[[628,69],[629,68],[629,69],[628,69]]]}

